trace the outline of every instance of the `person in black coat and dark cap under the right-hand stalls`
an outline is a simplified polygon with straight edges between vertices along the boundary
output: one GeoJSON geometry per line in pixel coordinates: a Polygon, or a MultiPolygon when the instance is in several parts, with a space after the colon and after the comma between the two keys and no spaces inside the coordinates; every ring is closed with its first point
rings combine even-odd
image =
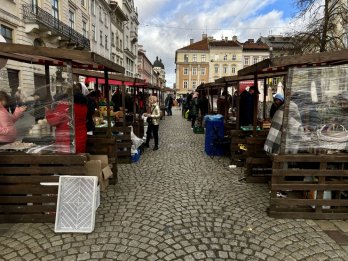
{"type": "Polygon", "coordinates": [[[245,89],[239,100],[239,125],[248,126],[253,125],[254,120],[254,95],[260,94],[255,86],[250,86],[245,89]]]}

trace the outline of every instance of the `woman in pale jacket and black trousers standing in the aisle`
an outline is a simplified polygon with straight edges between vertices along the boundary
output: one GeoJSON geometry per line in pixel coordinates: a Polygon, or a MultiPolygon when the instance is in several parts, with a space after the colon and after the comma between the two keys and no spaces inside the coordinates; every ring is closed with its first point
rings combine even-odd
{"type": "Polygon", "coordinates": [[[148,122],[145,147],[149,148],[150,138],[151,136],[153,136],[155,139],[155,147],[153,148],[153,150],[158,150],[158,129],[159,129],[161,111],[157,103],[156,96],[150,96],[149,103],[150,103],[149,113],[144,113],[144,117],[147,117],[147,122],[148,122]]]}

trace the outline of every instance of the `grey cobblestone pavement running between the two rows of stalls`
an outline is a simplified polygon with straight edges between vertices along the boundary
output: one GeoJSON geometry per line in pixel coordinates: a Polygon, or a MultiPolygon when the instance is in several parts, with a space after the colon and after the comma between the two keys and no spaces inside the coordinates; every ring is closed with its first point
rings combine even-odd
{"type": "MultiPolygon", "coordinates": [[[[119,167],[102,194],[91,234],[55,234],[53,224],[1,230],[5,260],[348,260],[314,221],[272,219],[264,184],[204,154],[175,109],[160,126],[160,149],[119,167]]],[[[6,229],[3,227],[3,229],[6,229]]]]}

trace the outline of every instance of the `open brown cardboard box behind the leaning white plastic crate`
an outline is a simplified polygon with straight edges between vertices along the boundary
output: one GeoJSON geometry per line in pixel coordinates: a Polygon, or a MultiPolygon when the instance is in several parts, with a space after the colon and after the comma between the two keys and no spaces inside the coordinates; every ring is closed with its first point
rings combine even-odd
{"type": "Polygon", "coordinates": [[[106,191],[109,185],[109,178],[113,175],[108,164],[108,156],[106,155],[89,155],[88,161],[85,163],[86,175],[97,176],[100,184],[100,190],[106,191]]]}

